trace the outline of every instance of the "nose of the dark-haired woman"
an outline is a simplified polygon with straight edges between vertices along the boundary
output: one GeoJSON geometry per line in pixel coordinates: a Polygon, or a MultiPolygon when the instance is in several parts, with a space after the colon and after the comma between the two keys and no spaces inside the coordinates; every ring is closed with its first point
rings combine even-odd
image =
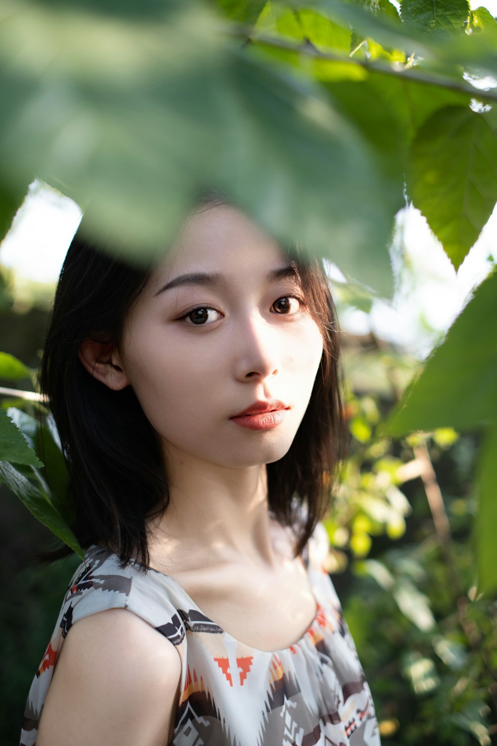
{"type": "Polygon", "coordinates": [[[275,375],[281,367],[276,327],[259,313],[244,319],[234,330],[235,376],[238,380],[275,375]]]}

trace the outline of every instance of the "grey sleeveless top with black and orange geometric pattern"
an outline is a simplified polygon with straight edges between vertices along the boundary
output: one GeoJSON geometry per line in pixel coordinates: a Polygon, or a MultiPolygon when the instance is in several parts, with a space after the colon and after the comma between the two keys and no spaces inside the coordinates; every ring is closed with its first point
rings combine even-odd
{"type": "MultiPolygon", "coordinates": [[[[180,699],[171,746],[379,746],[370,689],[321,562],[319,524],[303,553],[317,604],[311,626],[284,650],[263,652],[207,618],[176,580],[95,545],[72,578],[34,677],[21,746],[34,746],[57,655],[72,624],[129,609],[177,648],[180,699]]],[[[327,548],[327,537],[324,537],[327,548]]],[[[322,547],[322,544],[321,544],[322,547]]]]}

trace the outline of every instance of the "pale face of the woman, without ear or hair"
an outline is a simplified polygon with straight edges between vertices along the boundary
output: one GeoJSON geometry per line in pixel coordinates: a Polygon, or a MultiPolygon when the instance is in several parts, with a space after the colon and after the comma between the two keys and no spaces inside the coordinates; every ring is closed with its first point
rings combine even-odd
{"type": "Polygon", "coordinates": [[[166,457],[241,467],[286,454],[323,351],[298,298],[291,262],[244,213],[189,219],[128,315],[119,360],[166,457]],[[278,413],[232,419],[275,401],[278,413]]]}

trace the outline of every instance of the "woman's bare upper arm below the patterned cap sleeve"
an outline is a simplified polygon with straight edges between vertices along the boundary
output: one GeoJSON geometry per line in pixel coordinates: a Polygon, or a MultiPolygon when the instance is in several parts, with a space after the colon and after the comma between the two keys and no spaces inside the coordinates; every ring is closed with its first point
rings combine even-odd
{"type": "Polygon", "coordinates": [[[37,746],[166,746],[177,715],[180,656],[126,609],[69,630],[54,671],[37,746]]]}

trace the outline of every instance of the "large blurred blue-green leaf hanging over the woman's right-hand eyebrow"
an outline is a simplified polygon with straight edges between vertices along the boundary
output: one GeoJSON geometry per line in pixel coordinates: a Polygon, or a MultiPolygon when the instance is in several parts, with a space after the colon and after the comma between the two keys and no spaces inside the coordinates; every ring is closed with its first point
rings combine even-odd
{"type": "Polygon", "coordinates": [[[387,245],[404,198],[354,122],[311,81],[256,57],[227,74],[220,105],[230,126],[215,181],[279,241],[298,240],[390,294],[387,245]]]}

